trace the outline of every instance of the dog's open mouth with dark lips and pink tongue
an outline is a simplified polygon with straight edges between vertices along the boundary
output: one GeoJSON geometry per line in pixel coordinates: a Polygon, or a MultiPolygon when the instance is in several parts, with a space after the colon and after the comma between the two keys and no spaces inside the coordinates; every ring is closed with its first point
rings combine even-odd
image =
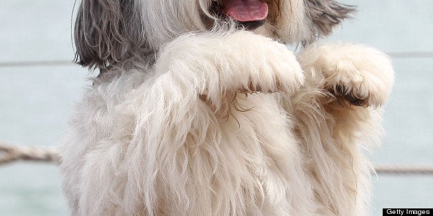
{"type": "Polygon", "coordinates": [[[212,1],[212,10],[221,18],[232,18],[248,30],[259,28],[268,17],[268,3],[259,0],[212,1]]]}

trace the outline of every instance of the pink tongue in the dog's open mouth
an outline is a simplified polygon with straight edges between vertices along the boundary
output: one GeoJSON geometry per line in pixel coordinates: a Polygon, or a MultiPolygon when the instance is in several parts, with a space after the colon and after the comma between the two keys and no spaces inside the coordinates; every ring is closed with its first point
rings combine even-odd
{"type": "Polygon", "coordinates": [[[261,21],[268,17],[268,4],[259,0],[223,0],[225,14],[236,21],[261,21]]]}

